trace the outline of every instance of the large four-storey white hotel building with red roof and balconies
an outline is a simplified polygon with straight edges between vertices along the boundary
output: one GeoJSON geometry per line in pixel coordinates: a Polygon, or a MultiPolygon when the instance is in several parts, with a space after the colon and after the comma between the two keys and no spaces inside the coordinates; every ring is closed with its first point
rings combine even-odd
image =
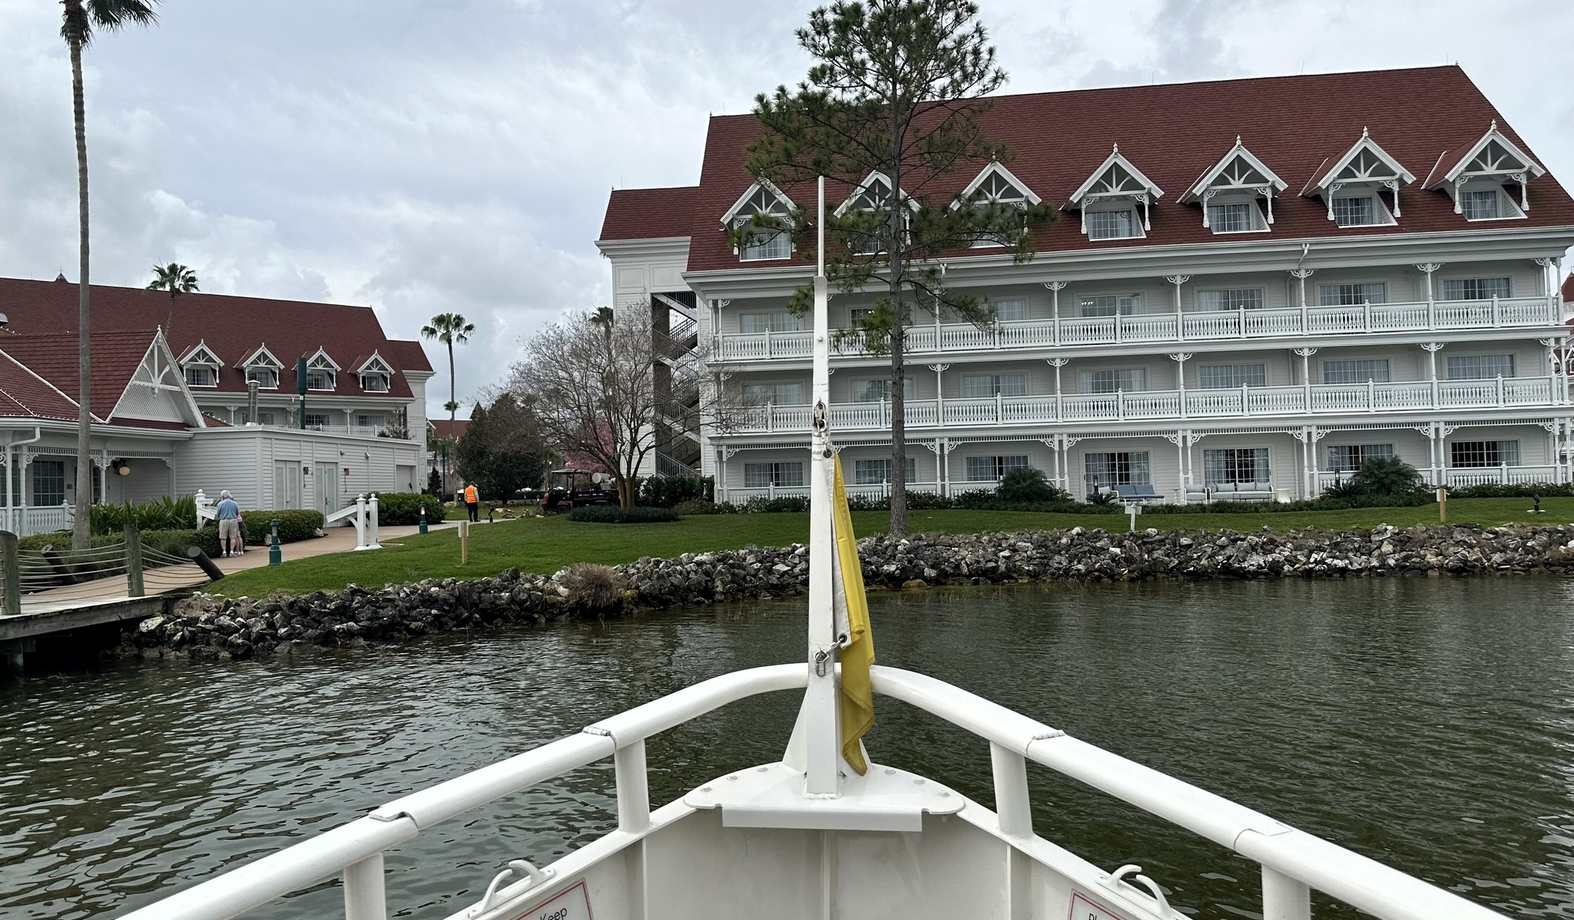
{"type": "MultiPolygon", "coordinates": [[[[699,184],[612,192],[597,243],[617,309],[674,340],[671,373],[754,403],[661,460],[730,501],[801,492],[809,460],[807,318],[784,301],[814,254],[738,252],[726,228],[812,208],[812,187],[757,186],[756,132],[711,118],[699,184]]],[[[1036,466],[1078,496],[1291,499],[1374,455],[1453,485],[1569,480],[1574,200],[1459,68],[1001,96],[985,132],[1014,158],[946,197],[988,183],[1059,221],[1028,263],[944,260],[998,323],[910,328],[910,488],[1036,466]]],[[[833,326],[875,296],[833,295],[833,326]]],[[[870,490],[891,473],[888,380],[883,356],[833,356],[833,435],[870,490]]]]}

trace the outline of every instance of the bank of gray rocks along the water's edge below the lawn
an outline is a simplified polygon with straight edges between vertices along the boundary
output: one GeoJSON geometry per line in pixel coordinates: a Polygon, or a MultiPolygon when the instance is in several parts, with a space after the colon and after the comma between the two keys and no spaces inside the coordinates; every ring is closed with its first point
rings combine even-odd
{"type": "MultiPolygon", "coordinates": [[[[1417,526],[1371,531],[924,534],[858,542],[870,589],[1026,581],[1143,581],[1527,575],[1574,572],[1574,525],[1417,526]]],[[[600,567],[597,567],[600,569],[600,567]]],[[[606,618],[671,607],[801,594],[806,545],[685,553],[601,570],[592,607],[565,569],[552,577],[510,569],[494,578],[433,578],[368,591],[224,599],[198,594],[170,616],[121,633],[126,657],[244,658],[305,647],[359,647],[455,629],[606,618]],[[615,591],[606,591],[606,578],[615,591]]],[[[592,573],[595,575],[595,573],[592,573]]]]}

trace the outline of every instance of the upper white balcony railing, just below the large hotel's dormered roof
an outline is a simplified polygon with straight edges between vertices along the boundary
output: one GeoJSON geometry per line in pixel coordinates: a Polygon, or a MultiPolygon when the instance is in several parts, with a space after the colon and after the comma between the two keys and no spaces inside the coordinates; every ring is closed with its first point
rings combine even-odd
{"type": "MultiPolygon", "coordinates": [[[[1563,307],[1557,298],[1492,298],[1489,301],[1421,301],[1412,304],[1022,320],[996,323],[982,329],[971,323],[913,326],[907,334],[907,351],[919,356],[957,351],[1025,351],[1034,348],[1151,342],[1248,342],[1253,339],[1363,336],[1371,332],[1445,332],[1560,325],[1563,325],[1563,307]]],[[[807,359],[812,356],[812,337],[814,334],[806,331],[724,334],[716,339],[716,359],[807,359]]],[[[856,337],[848,339],[841,343],[839,351],[842,354],[858,354],[861,353],[861,342],[856,337]]]]}

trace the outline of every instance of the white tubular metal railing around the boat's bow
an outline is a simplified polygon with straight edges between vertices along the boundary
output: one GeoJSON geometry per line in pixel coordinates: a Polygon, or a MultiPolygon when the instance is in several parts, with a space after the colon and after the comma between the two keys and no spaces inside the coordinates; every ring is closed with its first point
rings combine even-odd
{"type": "MultiPolygon", "coordinates": [[[[1077,740],[943,681],[874,666],[875,693],[902,699],[990,744],[999,830],[1033,837],[1028,761],[1080,780],[1262,866],[1262,915],[1311,917],[1311,888],[1382,920],[1502,920],[1459,895],[1281,824],[1243,805],[1077,740]]],[[[342,874],[346,920],[384,920],[382,854],[420,832],[611,756],[619,829],[650,829],[645,739],[748,696],[807,685],[807,665],[735,671],[604,718],[551,744],[395,799],[368,816],[266,855],[124,915],[224,920],[342,874]]]]}

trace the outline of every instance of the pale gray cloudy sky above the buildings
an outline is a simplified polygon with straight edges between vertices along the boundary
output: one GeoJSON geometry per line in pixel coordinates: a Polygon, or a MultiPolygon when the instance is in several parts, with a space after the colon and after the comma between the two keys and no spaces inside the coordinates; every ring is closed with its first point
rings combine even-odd
{"type": "MultiPolygon", "coordinates": [[[[1574,175],[1568,0],[981,5],[1009,91],[1458,61],[1574,175]]],[[[608,189],[696,181],[707,113],[803,76],[811,6],[168,0],[87,54],[93,277],[183,262],[209,291],[371,304],[394,337],[458,310],[467,400],[521,336],[608,302],[608,189]]],[[[0,276],[76,279],[58,16],[0,0],[0,276]]]]}

